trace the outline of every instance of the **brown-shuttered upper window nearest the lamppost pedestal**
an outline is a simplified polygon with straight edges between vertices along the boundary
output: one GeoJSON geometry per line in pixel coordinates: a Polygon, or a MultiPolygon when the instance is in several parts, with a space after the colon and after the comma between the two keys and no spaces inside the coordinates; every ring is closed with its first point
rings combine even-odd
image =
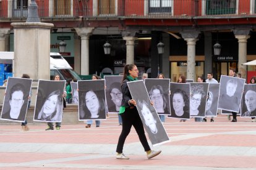
{"type": "Polygon", "coordinates": [[[70,0],[54,0],[55,15],[70,15],[71,1],[70,0]]]}

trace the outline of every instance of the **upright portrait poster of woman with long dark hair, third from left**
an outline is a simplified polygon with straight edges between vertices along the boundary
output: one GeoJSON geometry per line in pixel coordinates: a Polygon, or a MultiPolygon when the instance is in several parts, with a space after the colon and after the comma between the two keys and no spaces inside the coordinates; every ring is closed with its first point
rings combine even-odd
{"type": "Polygon", "coordinates": [[[106,119],[105,79],[78,81],[79,120],[106,119]]]}

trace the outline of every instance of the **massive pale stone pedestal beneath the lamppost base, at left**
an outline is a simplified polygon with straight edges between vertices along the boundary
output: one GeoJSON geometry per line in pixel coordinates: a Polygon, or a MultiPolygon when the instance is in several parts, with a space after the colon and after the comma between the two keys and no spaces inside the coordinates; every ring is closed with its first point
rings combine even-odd
{"type": "Polygon", "coordinates": [[[52,23],[11,23],[14,27],[14,76],[50,78],[50,31],[52,23]]]}

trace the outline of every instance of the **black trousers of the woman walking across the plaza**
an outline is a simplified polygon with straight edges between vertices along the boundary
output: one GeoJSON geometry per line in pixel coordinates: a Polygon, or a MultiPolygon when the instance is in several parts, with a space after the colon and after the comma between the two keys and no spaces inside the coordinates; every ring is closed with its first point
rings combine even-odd
{"type": "Polygon", "coordinates": [[[139,136],[140,142],[142,143],[145,152],[149,151],[150,146],[148,145],[142,120],[140,119],[140,115],[137,111],[137,108],[126,108],[126,111],[124,111],[124,113],[121,114],[121,117],[122,132],[119,136],[116,152],[122,153],[122,148],[124,148],[124,142],[126,141],[126,137],[129,135],[130,128],[132,128],[132,126],[134,126],[135,128],[135,131],[139,136]]]}

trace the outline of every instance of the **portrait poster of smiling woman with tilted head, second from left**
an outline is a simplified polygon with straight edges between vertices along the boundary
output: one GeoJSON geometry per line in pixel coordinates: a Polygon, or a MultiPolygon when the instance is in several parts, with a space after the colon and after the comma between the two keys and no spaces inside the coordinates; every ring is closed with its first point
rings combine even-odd
{"type": "Polygon", "coordinates": [[[38,81],[34,121],[62,121],[65,84],[66,81],[38,81]]]}

